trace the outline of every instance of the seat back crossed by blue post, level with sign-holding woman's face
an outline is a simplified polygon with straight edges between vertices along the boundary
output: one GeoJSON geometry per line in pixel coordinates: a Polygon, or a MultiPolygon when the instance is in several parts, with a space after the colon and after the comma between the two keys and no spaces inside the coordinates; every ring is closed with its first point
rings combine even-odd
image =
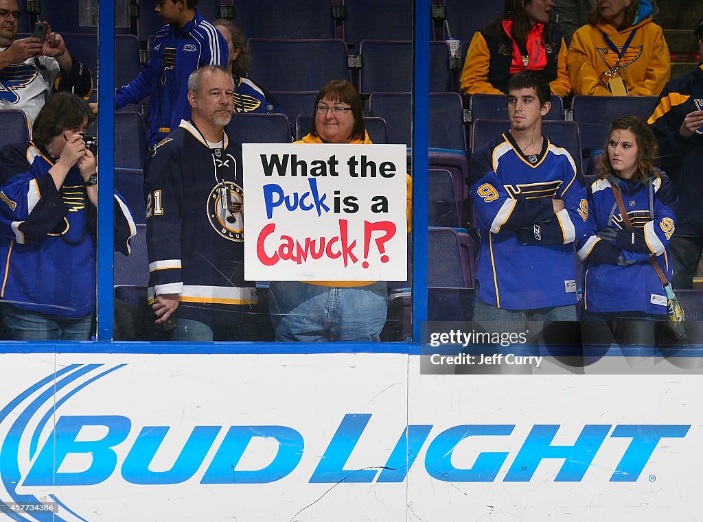
{"type": "MultiPolygon", "coordinates": [[[[370,109],[388,124],[389,143],[411,146],[411,94],[371,93],[370,109]]],[[[465,150],[461,98],[457,93],[430,93],[432,148],[465,150]]]]}

